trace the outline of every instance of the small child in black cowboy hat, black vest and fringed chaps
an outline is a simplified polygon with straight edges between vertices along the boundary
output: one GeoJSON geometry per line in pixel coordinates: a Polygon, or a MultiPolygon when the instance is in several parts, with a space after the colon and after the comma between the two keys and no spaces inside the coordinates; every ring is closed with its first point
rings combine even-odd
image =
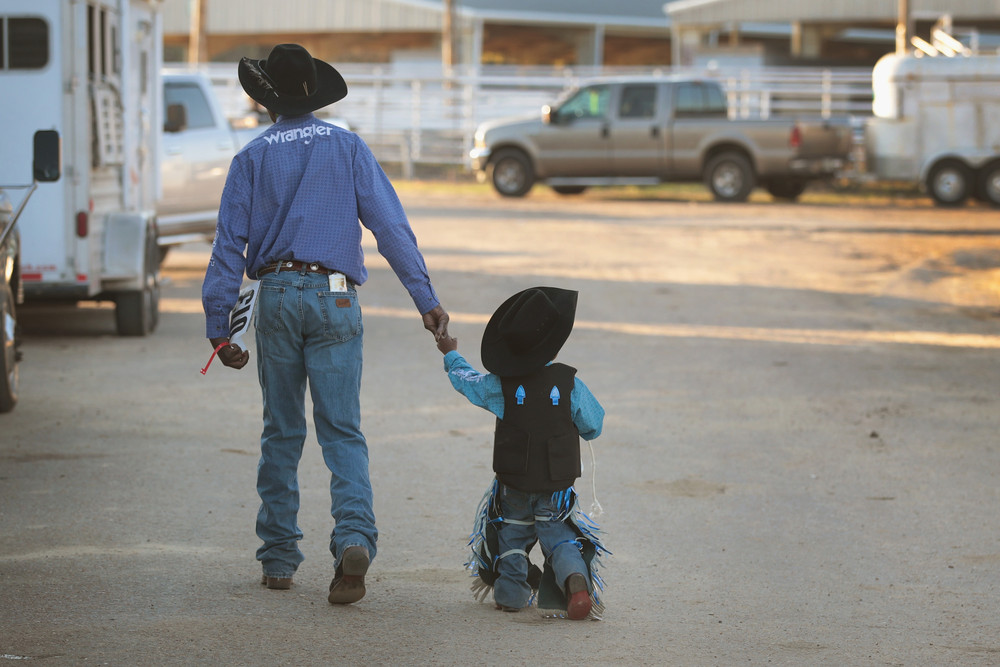
{"type": "Polygon", "coordinates": [[[573,329],[577,292],[533,287],[507,299],[483,333],[484,375],[444,337],[438,349],[452,386],[497,416],[496,479],[480,504],[470,542],[473,590],[493,590],[497,609],[518,611],[538,593],[546,616],[600,619],[597,574],[607,553],[597,526],[580,510],[580,438],[601,434],[604,409],[576,369],[552,363],[573,329]],[[528,560],[541,543],[544,572],[528,560]]]}

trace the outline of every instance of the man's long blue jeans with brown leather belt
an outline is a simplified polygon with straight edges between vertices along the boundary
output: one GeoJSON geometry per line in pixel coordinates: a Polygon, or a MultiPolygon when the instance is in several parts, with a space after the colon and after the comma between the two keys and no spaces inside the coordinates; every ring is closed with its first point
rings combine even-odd
{"type": "Polygon", "coordinates": [[[330,292],[327,276],[280,272],[261,280],[256,315],[257,369],[264,430],[257,466],[257,560],[264,574],[290,577],[304,556],[298,465],[306,438],[305,391],[316,438],[330,469],[330,552],[339,560],[360,545],[375,557],[375,512],[368,445],[361,433],[361,306],[353,286],[330,292]]]}

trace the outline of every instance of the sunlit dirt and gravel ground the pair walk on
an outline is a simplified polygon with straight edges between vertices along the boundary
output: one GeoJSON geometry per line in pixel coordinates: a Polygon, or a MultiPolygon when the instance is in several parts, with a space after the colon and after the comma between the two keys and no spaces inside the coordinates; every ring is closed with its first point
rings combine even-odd
{"type": "Polygon", "coordinates": [[[605,620],[501,614],[462,564],[493,423],[450,387],[366,238],[364,428],[379,555],[326,602],[260,586],[255,365],[198,369],[208,246],[168,257],[158,331],[24,308],[0,417],[0,663],[1000,663],[1000,215],[923,202],[717,205],[401,185],[460,350],[535,284],[580,290],[560,359],[607,410],[578,488],[605,620]]]}

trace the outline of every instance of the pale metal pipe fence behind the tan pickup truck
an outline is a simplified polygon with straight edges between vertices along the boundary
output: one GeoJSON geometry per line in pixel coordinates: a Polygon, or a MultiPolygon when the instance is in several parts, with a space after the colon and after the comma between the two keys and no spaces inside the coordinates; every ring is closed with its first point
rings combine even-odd
{"type": "MultiPolygon", "coordinates": [[[[250,108],[232,65],[203,66],[230,117],[250,108]]],[[[730,116],[851,117],[871,115],[871,70],[860,68],[549,68],[489,67],[441,74],[440,67],[339,66],[350,93],[318,113],[345,120],[379,160],[412,175],[420,164],[467,164],[476,127],[488,120],[539,113],[564,89],[598,76],[705,77],[719,81],[730,116]]]]}

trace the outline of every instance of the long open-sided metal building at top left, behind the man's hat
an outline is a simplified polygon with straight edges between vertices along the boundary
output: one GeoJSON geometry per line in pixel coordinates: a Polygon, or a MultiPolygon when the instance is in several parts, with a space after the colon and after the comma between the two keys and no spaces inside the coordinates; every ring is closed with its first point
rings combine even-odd
{"type": "MultiPolygon", "coordinates": [[[[302,43],[336,62],[440,62],[445,0],[200,0],[210,60],[302,43]]],[[[168,57],[182,59],[192,2],[164,4],[168,57]]],[[[452,0],[455,62],[664,65],[662,0],[452,0]]]]}

